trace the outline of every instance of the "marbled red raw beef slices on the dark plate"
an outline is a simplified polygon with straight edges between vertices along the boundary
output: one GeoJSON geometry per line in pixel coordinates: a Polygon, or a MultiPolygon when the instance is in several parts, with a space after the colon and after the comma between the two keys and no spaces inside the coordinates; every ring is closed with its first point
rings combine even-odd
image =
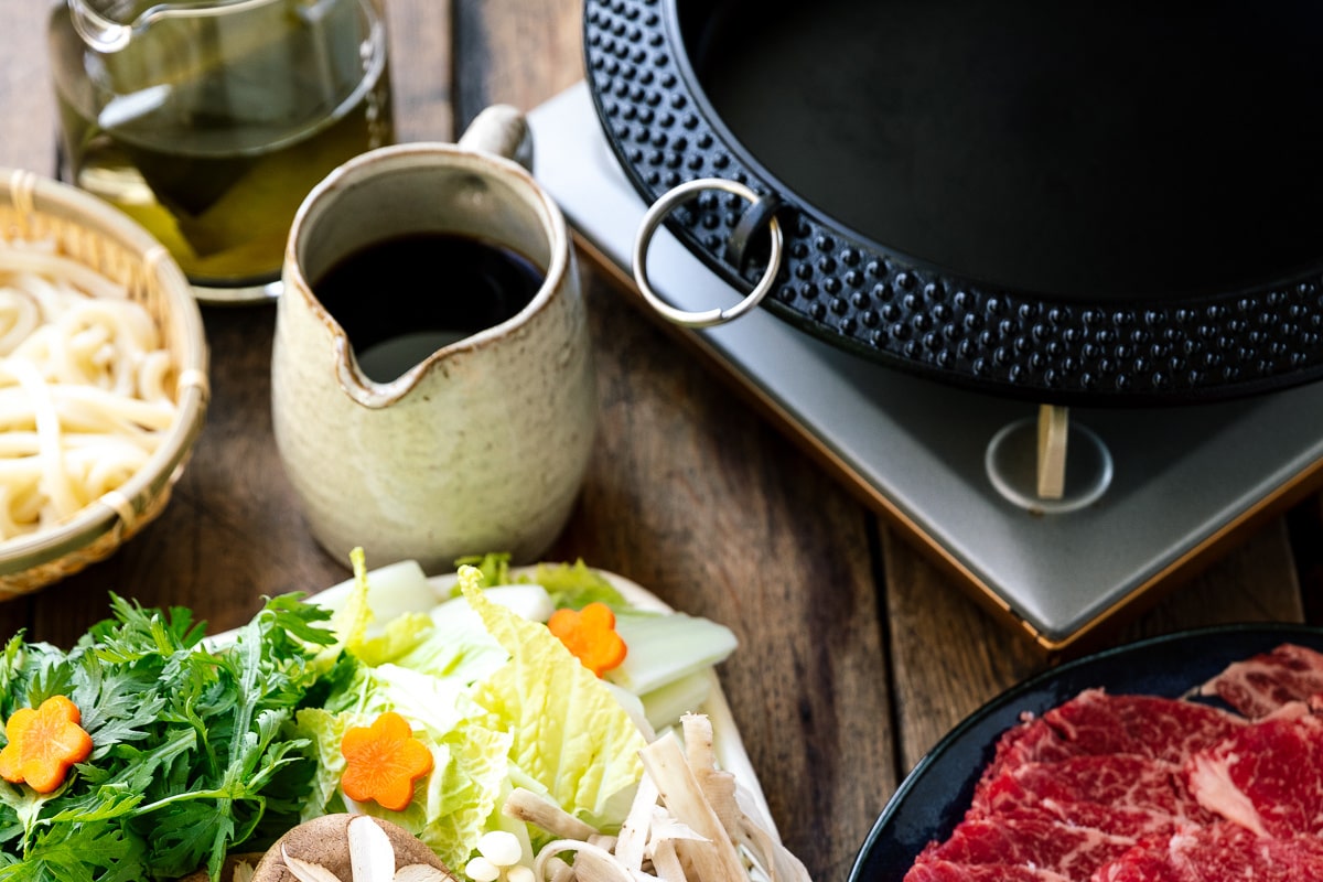
{"type": "Polygon", "coordinates": [[[1323,882],[1323,655],[1204,689],[1254,719],[1102,689],[1025,715],[905,882],[1323,882]]]}

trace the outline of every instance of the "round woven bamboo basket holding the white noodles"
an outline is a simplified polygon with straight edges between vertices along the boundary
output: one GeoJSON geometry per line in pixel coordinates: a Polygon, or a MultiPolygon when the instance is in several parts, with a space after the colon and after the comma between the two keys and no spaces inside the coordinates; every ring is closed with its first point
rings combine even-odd
{"type": "Polygon", "coordinates": [[[193,291],[165,247],[107,202],[56,180],[0,168],[0,242],[41,239],[128,290],[171,354],[177,413],[151,459],[66,520],[0,542],[0,600],[110,557],[161,513],[202,430],[206,336],[193,291]]]}

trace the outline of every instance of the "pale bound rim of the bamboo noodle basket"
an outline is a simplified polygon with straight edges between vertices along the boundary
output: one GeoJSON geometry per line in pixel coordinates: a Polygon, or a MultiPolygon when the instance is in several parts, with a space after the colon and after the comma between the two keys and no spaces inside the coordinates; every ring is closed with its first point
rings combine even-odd
{"type": "MultiPolygon", "coordinates": [[[[151,509],[157,496],[169,492],[187,463],[193,443],[201,434],[209,397],[206,333],[201,311],[188,279],[173,258],[164,253],[164,246],[135,220],[90,193],[33,172],[0,167],[0,202],[13,204],[15,193],[24,188],[32,197],[28,206],[32,214],[74,217],[81,226],[107,237],[127,251],[143,258],[152,255],[148,264],[168,303],[160,321],[171,327],[171,333],[179,341],[176,376],[188,376],[196,378],[196,382],[181,386],[175,421],[161,436],[160,447],[120,485],[116,497],[120,505],[116,508],[99,500],[93,501],[58,525],[0,542],[0,578],[16,577],[29,569],[57,562],[95,542],[116,529],[123,520],[120,512],[126,504],[135,516],[151,509]]],[[[134,528],[132,524],[126,526],[134,528]]],[[[118,542],[112,547],[118,547],[118,542]]],[[[52,574],[44,583],[56,578],[60,574],[52,574]]]]}

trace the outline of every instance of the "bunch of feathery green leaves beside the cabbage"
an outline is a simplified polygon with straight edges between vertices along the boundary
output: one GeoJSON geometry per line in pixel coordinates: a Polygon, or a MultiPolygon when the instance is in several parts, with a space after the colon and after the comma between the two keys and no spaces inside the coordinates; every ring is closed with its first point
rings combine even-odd
{"type": "MultiPolygon", "coordinates": [[[[0,657],[0,715],[67,696],[93,754],[40,795],[0,782],[0,882],[172,879],[262,848],[298,822],[314,774],[287,722],[335,643],[329,614],[267,600],[212,647],[180,607],[111,595],[112,618],[69,652],[19,635],[0,657]]],[[[0,744],[4,743],[0,734],[0,744]]]]}

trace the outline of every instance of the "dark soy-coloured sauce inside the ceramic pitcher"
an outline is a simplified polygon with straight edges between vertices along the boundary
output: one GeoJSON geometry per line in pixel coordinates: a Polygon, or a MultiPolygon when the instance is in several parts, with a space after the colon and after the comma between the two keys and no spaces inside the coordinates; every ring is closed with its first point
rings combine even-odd
{"type": "Polygon", "coordinates": [[[340,258],[312,291],[349,337],[364,376],[390,382],[437,349],[517,315],[545,278],[496,242],[409,233],[340,258]]]}

